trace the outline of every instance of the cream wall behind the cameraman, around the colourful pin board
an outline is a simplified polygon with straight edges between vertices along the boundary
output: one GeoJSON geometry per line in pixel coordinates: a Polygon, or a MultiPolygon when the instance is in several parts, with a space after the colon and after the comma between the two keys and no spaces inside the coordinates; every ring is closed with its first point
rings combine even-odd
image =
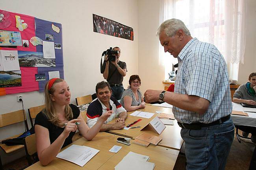
{"type": "MultiPolygon", "coordinates": [[[[121,48],[121,61],[127,64],[124,87],[130,75],[138,73],[137,0],[0,0],[0,9],[58,22],[63,28],[64,76],[71,88],[71,103],[75,98],[95,93],[96,83],[104,80],[100,74],[100,56],[109,47],[121,48]],[[134,29],[134,41],[93,32],[92,14],[104,16],[134,29]]],[[[0,114],[21,110],[16,96],[22,95],[24,109],[43,104],[38,91],[0,96],[0,114]]],[[[30,124],[30,123],[29,123],[30,124]]],[[[24,132],[22,123],[0,129],[0,139],[24,132]],[[18,130],[17,130],[18,128],[18,130]]],[[[1,150],[2,157],[2,150],[1,150]]],[[[2,157],[3,162],[11,157],[2,157]]]]}

